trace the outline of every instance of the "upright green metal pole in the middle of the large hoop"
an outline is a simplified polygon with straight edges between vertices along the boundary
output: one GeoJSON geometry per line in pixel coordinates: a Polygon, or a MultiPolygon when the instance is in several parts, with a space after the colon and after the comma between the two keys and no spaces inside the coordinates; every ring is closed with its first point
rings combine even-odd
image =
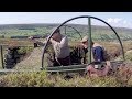
{"type": "Polygon", "coordinates": [[[91,63],[91,22],[88,18],[88,64],[91,63]]]}

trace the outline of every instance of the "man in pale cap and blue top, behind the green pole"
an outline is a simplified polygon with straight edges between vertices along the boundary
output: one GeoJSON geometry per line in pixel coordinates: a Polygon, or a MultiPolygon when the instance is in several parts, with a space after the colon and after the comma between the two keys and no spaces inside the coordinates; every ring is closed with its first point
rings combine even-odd
{"type": "MultiPolygon", "coordinates": [[[[88,52],[88,36],[85,36],[80,44],[77,45],[74,51],[70,53],[72,56],[72,63],[78,63],[78,64],[86,64],[86,54],[88,52]],[[84,59],[84,61],[82,61],[84,59]],[[78,61],[78,62],[77,62],[78,61]]],[[[92,50],[92,56],[95,62],[103,62],[105,58],[105,48],[102,45],[98,43],[94,43],[91,41],[91,50],[92,50]]]]}

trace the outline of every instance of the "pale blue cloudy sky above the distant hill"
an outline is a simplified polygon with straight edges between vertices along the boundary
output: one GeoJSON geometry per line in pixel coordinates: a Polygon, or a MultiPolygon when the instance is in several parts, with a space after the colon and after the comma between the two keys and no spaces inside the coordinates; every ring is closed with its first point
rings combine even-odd
{"type": "MultiPolygon", "coordinates": [[[[78,15],[92,15],[112,26],[132,29],[132,12],[0,12],[0,24],[63,23],[78,15]]],[[[87,19],[79,19],[70,23],[87,24],[88,22],[87,19]]],[[[92,20],[92,24],[105,25],[96,20],[92,20]]]]}

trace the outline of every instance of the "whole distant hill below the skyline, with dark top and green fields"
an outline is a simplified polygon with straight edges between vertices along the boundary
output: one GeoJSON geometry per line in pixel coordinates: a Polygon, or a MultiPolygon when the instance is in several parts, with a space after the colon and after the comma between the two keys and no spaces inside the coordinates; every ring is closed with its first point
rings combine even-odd
{"type": "MultiPolygon", "coordinates": [[[[50,34],[52,31],[51,29],[57,28],[59,24],[6,24],[0,25],[0,35],[6,36],[29,36],[29,35],[45,35],[50,34]]],[[[81,35],[88,34],[88,25],[82,24],[67,24],[75,29],[77,29],[81,35]]],[[[132,40],[132,29],[125,29],[125,28],[113,28],[120,37],[122,40],[132,40]]],[[[114,33],[111,31],[108,26],[99,26],[99,25],[92,25],[91,32],[95,38],[102,38],[101,36],[105,36],[105,38],[113,38],[114,33]]],[[[76,33],[69,32],[69,36],[75,36],[76,33]]]]}

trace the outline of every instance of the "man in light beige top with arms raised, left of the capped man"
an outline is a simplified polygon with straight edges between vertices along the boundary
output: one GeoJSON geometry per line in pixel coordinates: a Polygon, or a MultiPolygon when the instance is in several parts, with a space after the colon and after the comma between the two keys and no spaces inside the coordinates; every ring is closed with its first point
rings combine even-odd
{"type": "Polygon", "coordinates": [[[68,38],[66,35],[61,34],[61,30],[55,31],[50,40],[55,52],[55,65],[67,66],[70,64],[70,50],[68,46],[68,38]]]}

